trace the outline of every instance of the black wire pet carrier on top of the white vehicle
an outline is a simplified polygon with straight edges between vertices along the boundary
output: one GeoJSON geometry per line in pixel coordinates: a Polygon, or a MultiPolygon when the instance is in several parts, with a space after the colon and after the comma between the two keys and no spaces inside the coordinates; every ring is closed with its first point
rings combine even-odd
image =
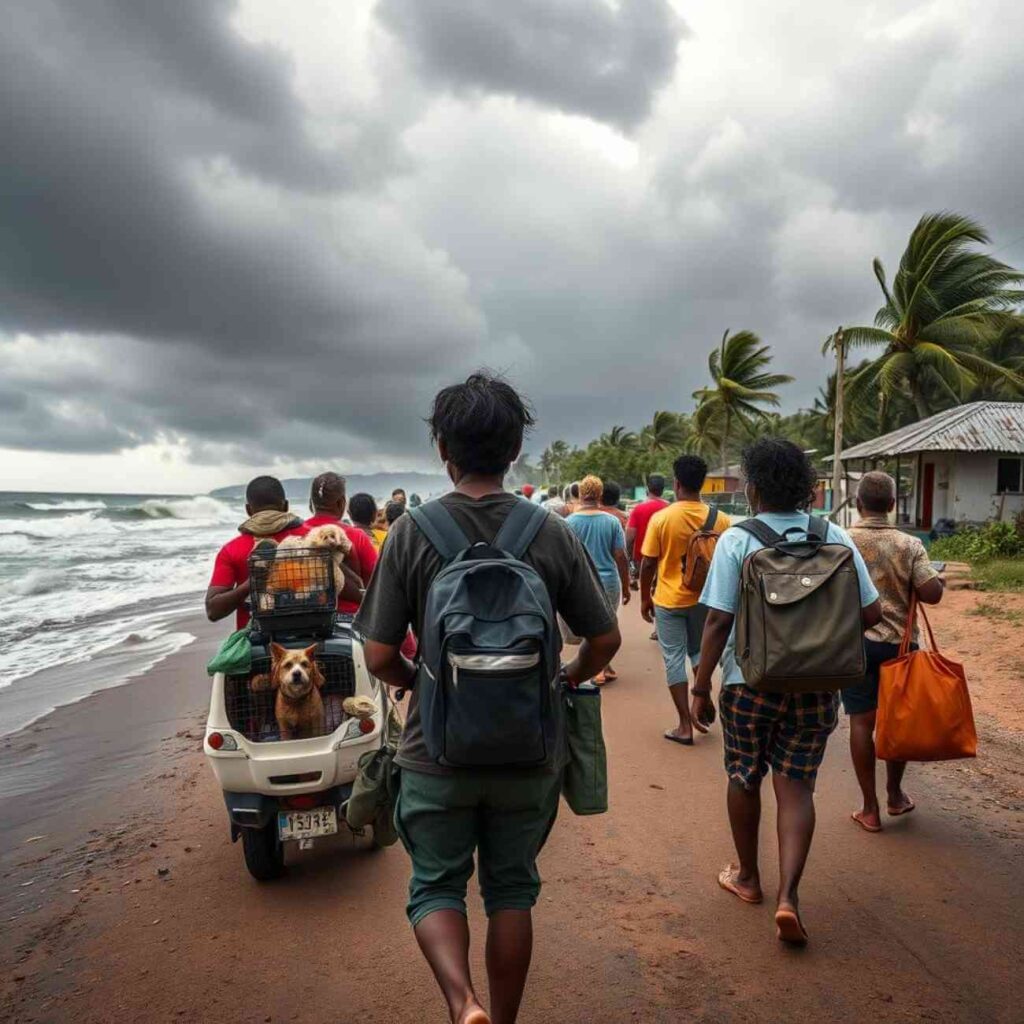
{"type": "Polygon", "coordinates": [[[270,637],[329,637],[338,592],[325,548],[260,545],[249,556],[249,600],[257,630],[270,637]]]}

